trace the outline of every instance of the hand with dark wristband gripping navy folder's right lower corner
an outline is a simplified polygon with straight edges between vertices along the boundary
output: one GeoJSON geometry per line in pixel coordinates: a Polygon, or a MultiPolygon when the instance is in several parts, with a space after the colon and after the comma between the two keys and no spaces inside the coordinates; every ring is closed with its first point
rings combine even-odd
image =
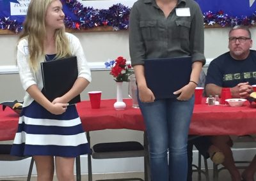
{"type": "Polygon", "coordinates": [[[187,85],[179,89],[178,91],[173,92],[173,94],[180,94],[177,98],[179,101],[188,101],[190,99],[196,89],[196,85],[193,82],[189,82],[187,85]]]}

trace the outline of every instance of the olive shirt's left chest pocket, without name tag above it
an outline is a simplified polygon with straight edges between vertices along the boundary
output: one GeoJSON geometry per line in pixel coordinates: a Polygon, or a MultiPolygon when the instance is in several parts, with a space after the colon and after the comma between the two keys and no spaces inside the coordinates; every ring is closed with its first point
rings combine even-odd
{"type": "Polygon", "coordinates": [[[146,41],[157,40],[157,20],[143,20],[140,21],[140,29],[143,39],[146,41]]]}

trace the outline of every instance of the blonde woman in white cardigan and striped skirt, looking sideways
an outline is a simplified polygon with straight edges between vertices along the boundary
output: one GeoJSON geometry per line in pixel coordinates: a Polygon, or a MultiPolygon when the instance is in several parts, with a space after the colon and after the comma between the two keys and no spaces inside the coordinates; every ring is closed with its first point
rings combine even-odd
{"type": "MultiPolygon", "coordinates": [[[[74,180],[74,158],[89,152],[76,105],[68,101],[90,83],[91,74],[76,36],[65,33],[60,0],[31,0],[17,46],[17,64],[26,90],[12,154],[33,156],[37,180],[74,180]],[[40,62],[77,57],[78,77],[65,95],[44,96],[40,62]]],[[[65,83],[65,82],[63,82],[65,83]]]]}

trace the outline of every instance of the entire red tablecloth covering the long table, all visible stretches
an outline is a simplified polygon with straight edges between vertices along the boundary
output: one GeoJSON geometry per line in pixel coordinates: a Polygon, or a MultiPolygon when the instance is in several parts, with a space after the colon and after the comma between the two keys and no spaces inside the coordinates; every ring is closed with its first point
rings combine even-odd
{"type": "MultiPolygon", "coordinates": [[[[92,109],[89,101],[77,104],[84,130],[143,131],[145,126],[140,109],[132,108],[131,99],[124,99],[124,101],[127,108],[122,111],[116,111],[113,108],[114,99],[102,100],[100,109],[92,109]]],[[[17,113],[10,108],[3,111],[0,106],[0,141],[14,138],[18,119],[17,113]]],[[[250,106],[248,102],[242,107],[195,105],[189,133],[202,135],[256,133],[256,105],[250,106]]]]}

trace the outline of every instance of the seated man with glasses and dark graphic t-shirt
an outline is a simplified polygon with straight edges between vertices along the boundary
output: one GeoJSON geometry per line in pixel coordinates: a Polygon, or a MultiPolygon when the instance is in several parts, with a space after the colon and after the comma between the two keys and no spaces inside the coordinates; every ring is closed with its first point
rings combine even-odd
{"type": "MultiPolygon", "coordinates": [[[[244,26],[233,27],[228,34],[229,52],[214,59],[207,70],[205,81],[206,95],[221,94],[222,87],[229,87],[232,98],[248,98],[253,92],[252,86],[256,84],[256,51],[250,50],[252,39],[250,30],[244,26]]],[[[240,175],[234,164],[232,156],[232,140],[230,136],[212,136],[212,143],[220,148],[225,155],[223,166],[230,172],[233,181],[252,181],[255,166],[249,166],[240,175]]]]}

